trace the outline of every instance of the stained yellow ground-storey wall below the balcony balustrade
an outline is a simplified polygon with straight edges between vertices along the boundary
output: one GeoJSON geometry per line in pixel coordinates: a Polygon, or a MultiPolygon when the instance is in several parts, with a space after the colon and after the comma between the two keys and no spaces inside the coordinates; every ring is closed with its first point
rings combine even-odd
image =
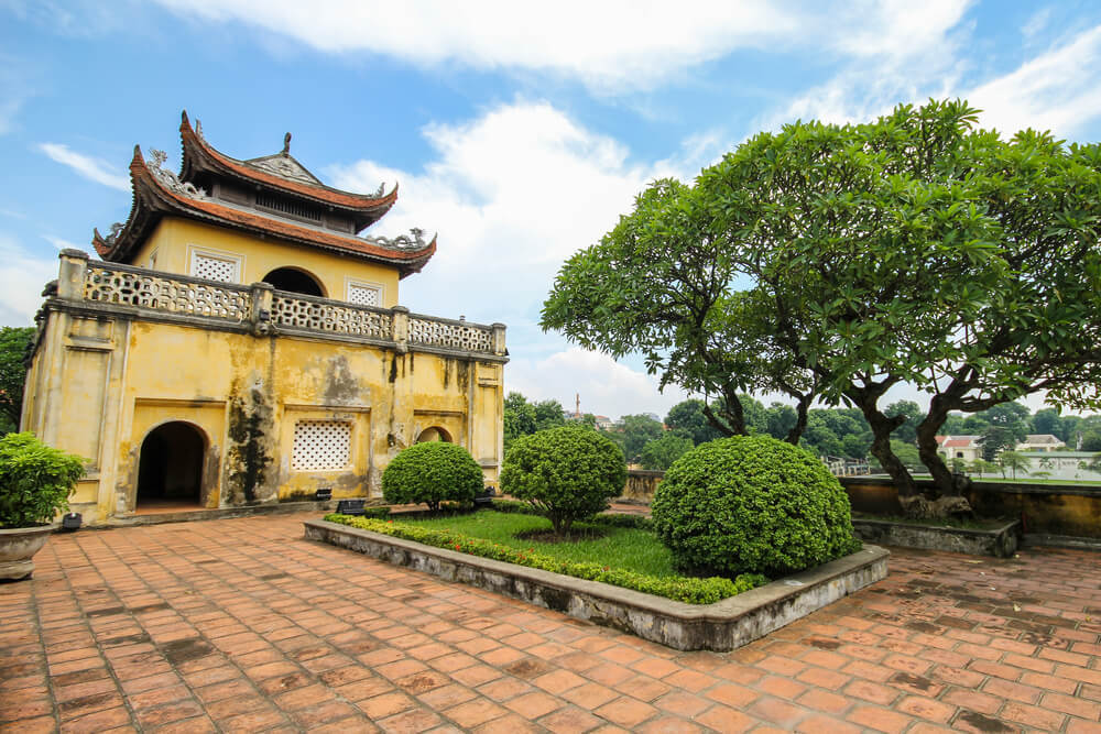
{"type": "Polygon", "coordinates": [[[249,322],[120,317],[109,304],[81,303],[83,267],[63,254],[22,427],[88,460],[72,499],[86,523],[134,512],[143,441],[170,421],[203,439],[207,507],[306,499],[320,487],[335,497],[381,496],[382,470],[425,431],[467,448],[487,482],[497,481],[503,364],[405,342],[385,349],[323,333],[268,335],[249,322]],[[302,420],[350,426],[344,467],[293,468],[302,420]]]}

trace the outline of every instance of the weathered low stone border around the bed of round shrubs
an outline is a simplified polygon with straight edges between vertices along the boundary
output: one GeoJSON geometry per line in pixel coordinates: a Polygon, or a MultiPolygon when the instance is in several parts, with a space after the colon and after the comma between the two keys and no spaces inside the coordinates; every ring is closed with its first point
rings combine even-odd
{"type": "Polygon", "coordinates": [[[883,548],[859,552],[713,604],[686,604],[630,589],[425,546],[348,525],[307,521],[305,537],[396,566],[522,599],[678,650],[732,650],[887,574],[883,548]]]}

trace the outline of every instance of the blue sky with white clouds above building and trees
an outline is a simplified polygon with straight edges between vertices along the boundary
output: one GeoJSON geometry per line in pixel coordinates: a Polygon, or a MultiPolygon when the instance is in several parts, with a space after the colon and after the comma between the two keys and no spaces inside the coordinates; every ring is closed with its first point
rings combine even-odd
{"type": "Polygon", "coordinates": [[[326,183],[400,182],[368,233],[439,234],[401,302],[508,324],[510,390],[664,415],[683,396],[637,360],[537,328],[562,261],[760,130],[929,97],[1101,139],[1101,3],[0,0],[0,322],[126,219],[135,143],[178,164],[186,108],[229,155],[291,131],[326,183]]]}

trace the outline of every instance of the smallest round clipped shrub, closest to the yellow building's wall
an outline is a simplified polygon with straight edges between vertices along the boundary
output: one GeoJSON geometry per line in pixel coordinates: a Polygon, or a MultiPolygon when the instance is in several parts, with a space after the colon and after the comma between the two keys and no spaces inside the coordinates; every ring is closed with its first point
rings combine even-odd
{"type": "Polygon", "coordinates": [[[414,443],[394,457],[382,472],[382,496],[391,504],[440,502],[469,504],[486,486],[481,467],[457,443],[414,443]]]}

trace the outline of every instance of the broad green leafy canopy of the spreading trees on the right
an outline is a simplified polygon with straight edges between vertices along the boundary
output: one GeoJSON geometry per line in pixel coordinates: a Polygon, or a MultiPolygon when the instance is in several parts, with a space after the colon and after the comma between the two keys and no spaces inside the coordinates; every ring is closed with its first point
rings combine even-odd
{"type": "Polygon", "coordinates": [[[930,101],[796,122],[694,186],[657,182],[563,266],[543,327],[723,397],[731,432],[745,431],[739,391],[853,405],[907,500],[891,443],[907,418],[880,402],[909,383],[930,401],[922,461],[955,493],[936,442],[949,413],[1037,391],[1101,405],[1101,146],[1006,141],[977,112],[930,101]]]}

